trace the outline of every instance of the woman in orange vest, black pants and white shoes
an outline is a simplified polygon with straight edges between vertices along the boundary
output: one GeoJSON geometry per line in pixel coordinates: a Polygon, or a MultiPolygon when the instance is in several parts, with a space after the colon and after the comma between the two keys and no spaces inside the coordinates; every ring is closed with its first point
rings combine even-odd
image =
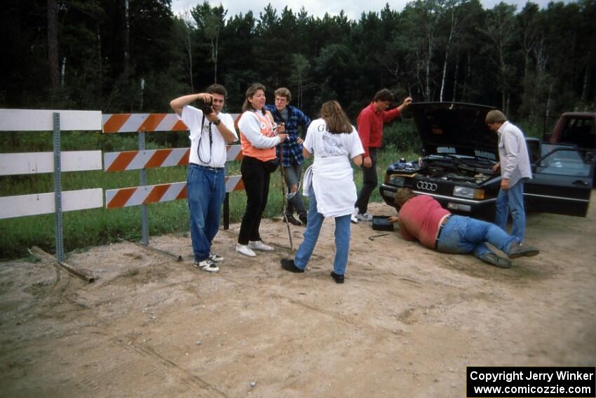
{"type": "Polygon", "coordinates": [[[241,174],[246,190],[246,210],[240,225],[236,251],[248,257],[255,257],[259,251],[272,251],[263,243],[259,226],[269,195],[271,173],[277,168],[276,146],[283,142],[286,134],[276,134],[271,112],[264,109],[265,87],[252,84],[246,91],[242,116],[238,121],[242,147],[241,174]]]}

